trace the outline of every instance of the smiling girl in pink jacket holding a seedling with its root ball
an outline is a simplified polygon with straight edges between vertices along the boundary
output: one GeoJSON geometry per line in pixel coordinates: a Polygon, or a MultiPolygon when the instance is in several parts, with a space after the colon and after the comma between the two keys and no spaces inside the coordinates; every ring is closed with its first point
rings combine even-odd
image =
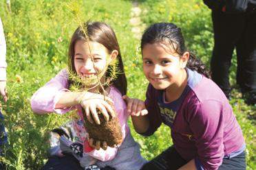
{"type": "Polygon", "coordinates": [[[36,113],[64,114],[72,109],[77,109],[79,117],[74,121],[74,130],[78,134],[76,143],[70,144],[64,136],[61,136],[60,140],[61,143],[66,143],[70,149],[75,149],[72,155],[65,154],[64,156],[66,150],[62,150],[61,147],[61,150],[48,160],[43,170],[82,169],[82,167],[90,169],[89,165],[97,165],[100,169],[107,169],[107,167],[116,170],[140,169],[146,161],[140,156],[138,143],[131,136],[127,123],[129,114],[127,114],[125,101],[122,100],[122,95],[127,92],[127,80],[113,29],[109,25],[99,22],[89,22],[83,28],[78,27],[70,42],[69,60],[71,61],[70,70],[78,75],[79,79],[83,80],[82,82],[88,82],[82,84],[88,90],[71,92],[69,88],[74,81],[70,80],[69,73],[63,69],[50,82],[37,90],[31,99],[32,110],[36,113]],[[84,34],[84,29],[87,36],[84,34]],[[96,93],[99,86],[98,80],[101,84],[105,84],[111,77],[109,65],[112,60],[118,60],[118,69],[122,74],[118,74],[115,80],[109,82],[110,86],[105,86],[105,93],[107,93],[105,95],[108,96],[107,101],[114,104],[116,114],[104,100],[104,96],[96,93]],[[81,107],[85,110],[85,118],[81,107]],[[87,141],[83,121],[88,119],[91,123],[100,124],[96,109],[103,113],[106,121],[109,117],[118,117],[123,137],[120,146],[108,147],[108,144],[103,141],[101,141],[103,145],[100,145],[99,141],[94,145],[91,139],[87,141]],[[82,145],[82,153],[81,145],[77,145],[78,143],[82,145]],[[103,147],[100,148],[100,146],[103,147]]]}

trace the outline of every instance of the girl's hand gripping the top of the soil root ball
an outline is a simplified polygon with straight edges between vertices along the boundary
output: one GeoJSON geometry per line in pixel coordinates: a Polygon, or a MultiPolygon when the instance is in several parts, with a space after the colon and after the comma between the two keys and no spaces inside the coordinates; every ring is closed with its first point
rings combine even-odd
{"type": "Polygon", "coordinates": [[[79,102],[81,106],[85,109],[85,115],[90,123],[94,123],[95,121],[96,124],[100,124],[100,119],[98,119],[98,113],[96,111],[96,108],[100,110],[106,121],[109,121],[109,115],[111,117],[116,117],[113,108],[111,108],[111,106],[109,105],[109,103],[113,104],[114,102],[109,97],[105,97],[105,99],[107,101],[104,100],[103,95],[94,94],[89,98],[87,97],[86,99],[81,99],[81,101],[79,102]]]}

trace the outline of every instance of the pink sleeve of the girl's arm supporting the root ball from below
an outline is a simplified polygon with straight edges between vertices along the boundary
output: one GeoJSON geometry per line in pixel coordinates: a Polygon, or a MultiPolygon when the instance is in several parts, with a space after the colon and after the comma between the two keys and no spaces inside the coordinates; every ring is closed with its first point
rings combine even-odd
{"type": "MultiPolygon", "coordinates": [[[[125,104],[125,101],[122,99],[122,95],[120,94],[120,92],[113,86],[111,86],[109,95],[114,100],[116,114],[121,125],[122,138],[124,139],[125,136],[127,136],[127,134],[129,133],[129,126],[127,123],[129,114],[127,113],[127,106],[125,104]]],[[[115,158],[117,151],[118,147],[107,147],[107,150],[103,150],[101,148],[99,150],[94,149],[87,154],[98,160],[108,161],[115,158]]]]}

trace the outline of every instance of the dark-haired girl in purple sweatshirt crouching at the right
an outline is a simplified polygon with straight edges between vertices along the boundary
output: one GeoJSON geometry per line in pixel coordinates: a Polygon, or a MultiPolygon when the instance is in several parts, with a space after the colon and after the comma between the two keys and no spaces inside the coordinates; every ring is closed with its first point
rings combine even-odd
{"type": "Polygon", "coordinates": [[[204,64],[186,50],[181,29],[151,25],[141,50],[147,99],[123,98],[136,132],[149,136],[164,123],[173,140],[142,169],[246,169],[245,142],[233,110],[204,64]]]}

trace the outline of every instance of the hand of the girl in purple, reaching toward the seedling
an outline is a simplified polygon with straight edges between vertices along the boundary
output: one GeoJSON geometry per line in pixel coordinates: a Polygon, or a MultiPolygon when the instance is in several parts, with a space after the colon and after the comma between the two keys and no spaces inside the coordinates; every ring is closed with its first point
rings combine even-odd
{"type": "Polygon", "coordinates": [[[127,95],[123,95],[122,99],[126,101],[127,111],[131,114],[131,116],[139,117],[148,113],[144,101],[140,99],[131,99],[127,95]]]}

